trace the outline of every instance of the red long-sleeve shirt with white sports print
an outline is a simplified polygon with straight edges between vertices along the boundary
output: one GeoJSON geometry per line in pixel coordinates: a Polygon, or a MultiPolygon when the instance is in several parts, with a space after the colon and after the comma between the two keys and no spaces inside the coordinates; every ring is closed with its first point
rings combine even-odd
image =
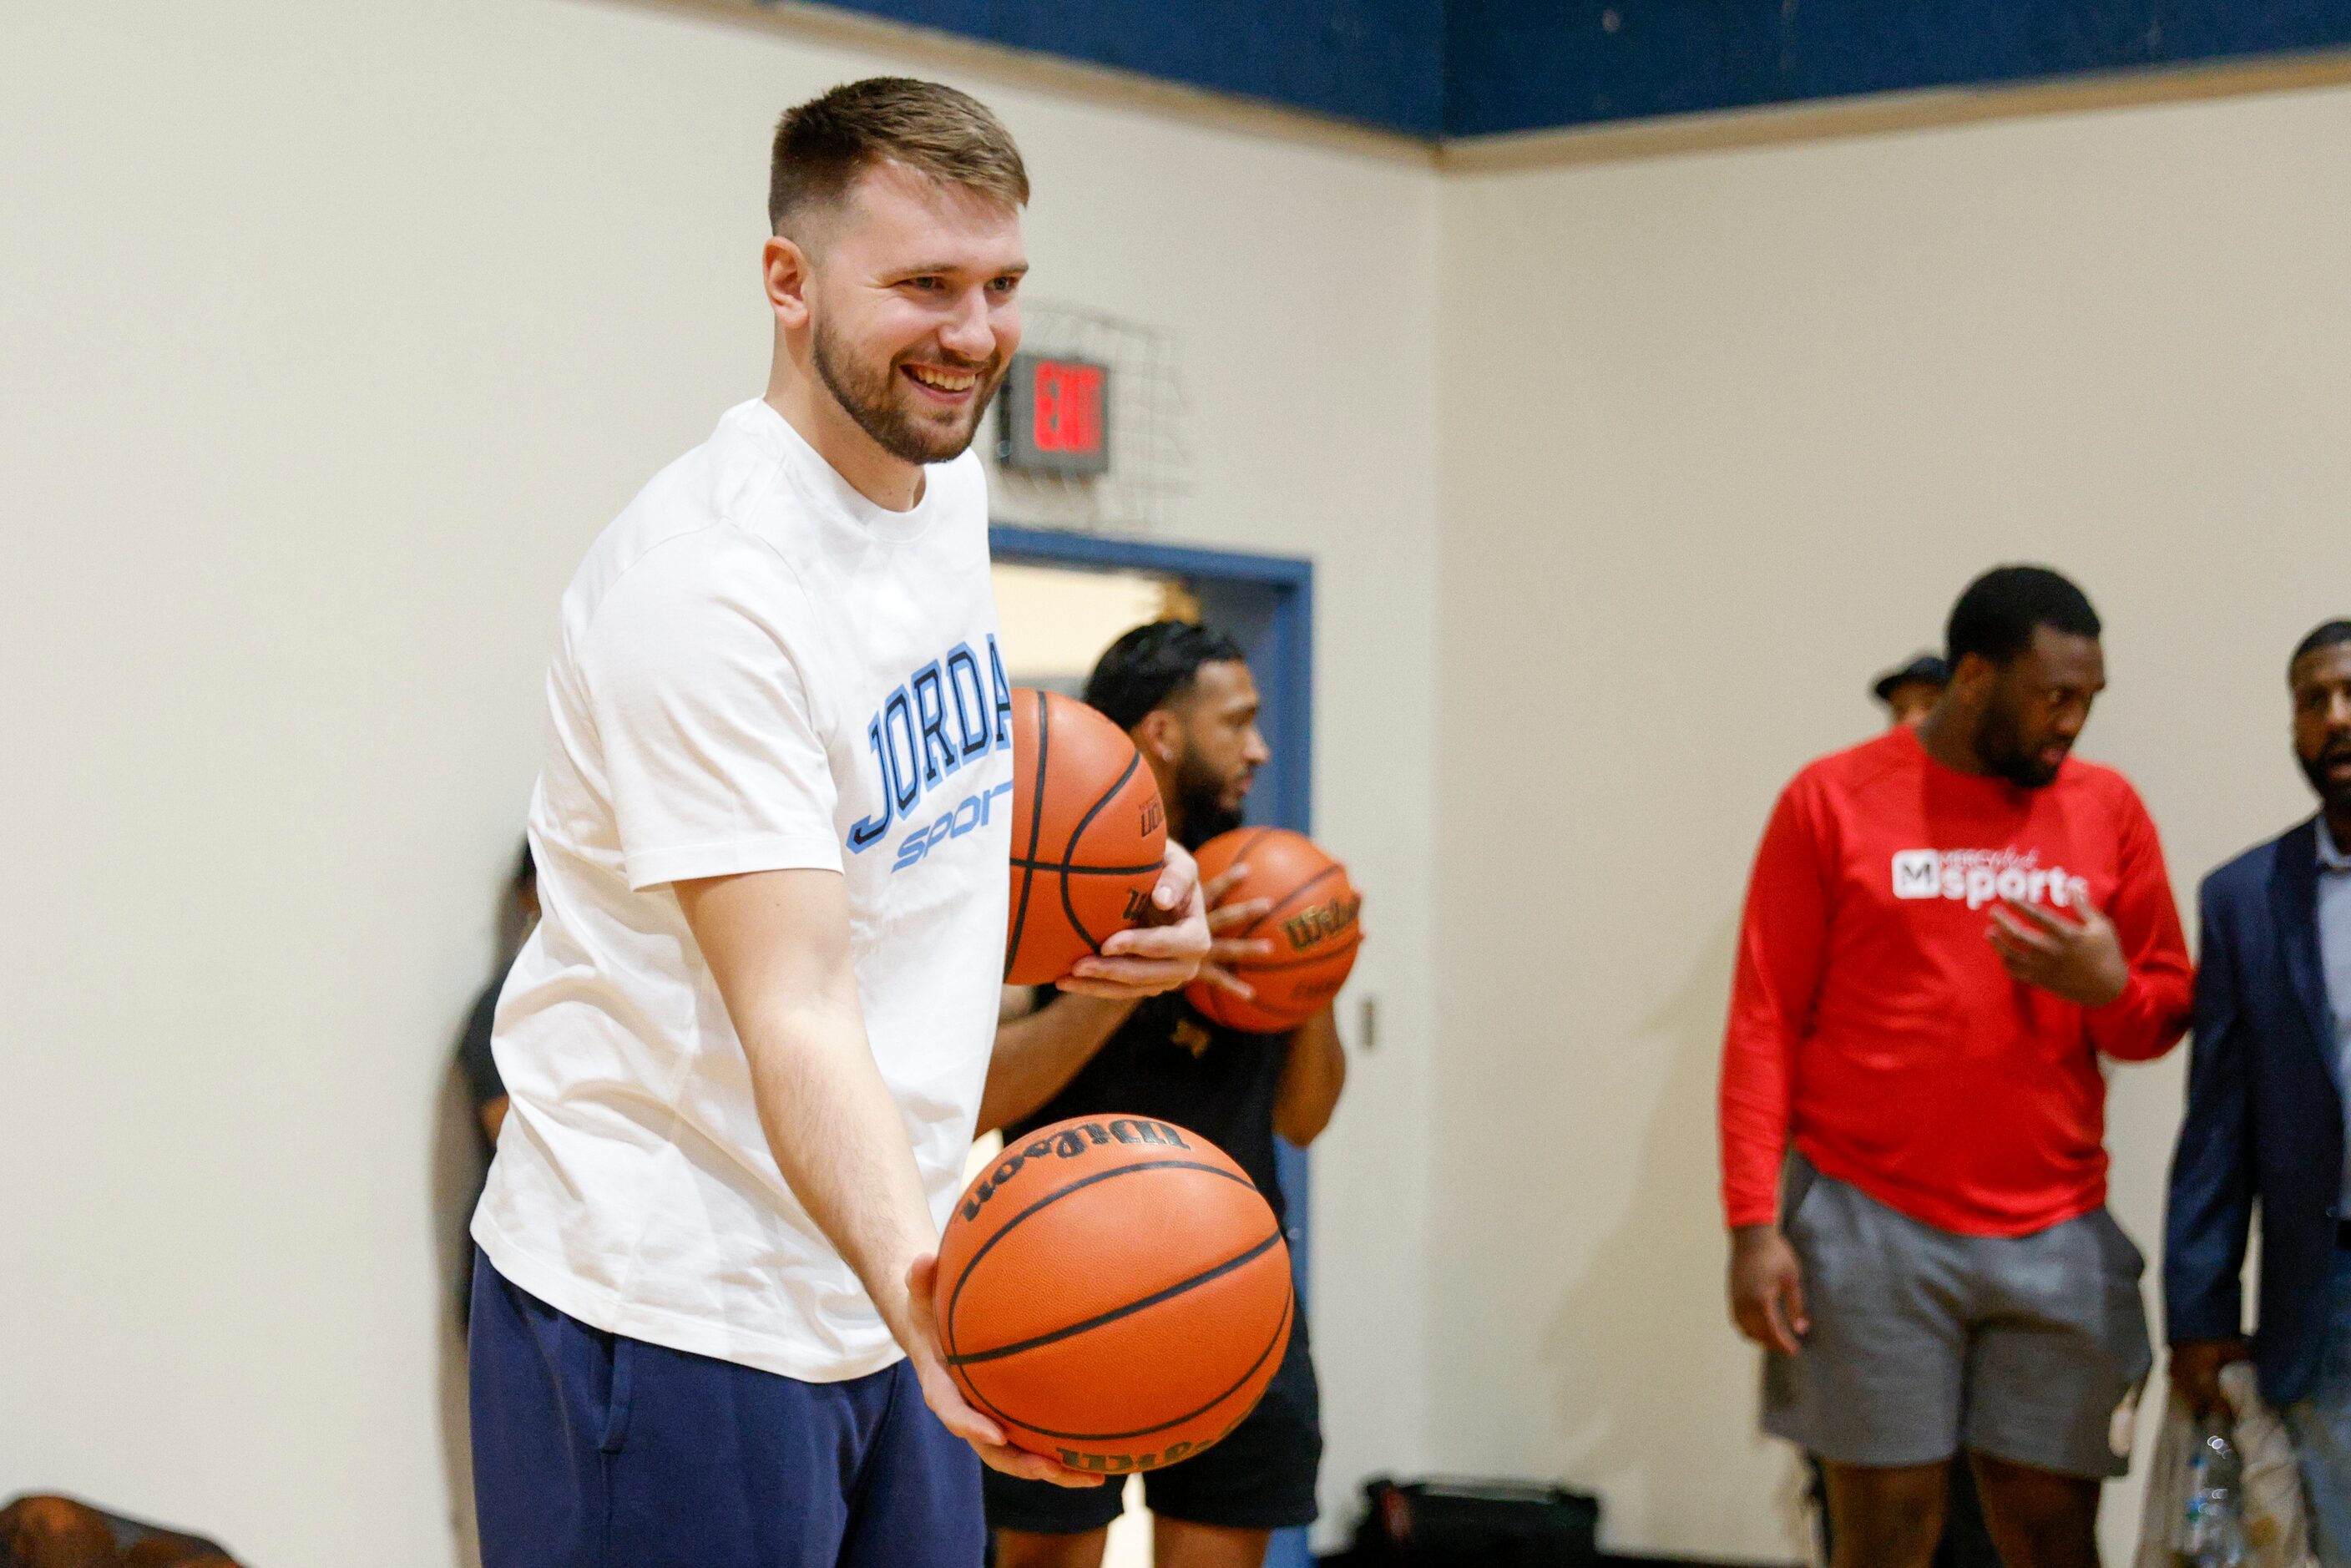
{"type": "Polygon", "coordinates": [[[1895,729],[1780,795],[1740,931],[1723,1037],[1723,1211],[1777,1213],[1806,1159],[1914,1220],[2024,1237],[2106,1201],[2099,1053],[2151,1060],[2193,973],[2163,846],[2121,773],[2067,759],[2022,790],[1895,729]],[[1991,905],[2106,912],[2130,983],[2083,1009],[2012,980],[1991,905]]]}

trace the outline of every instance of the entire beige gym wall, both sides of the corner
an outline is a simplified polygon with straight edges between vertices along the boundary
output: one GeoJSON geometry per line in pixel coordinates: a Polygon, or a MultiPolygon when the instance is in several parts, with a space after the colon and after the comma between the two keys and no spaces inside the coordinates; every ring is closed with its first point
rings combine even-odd
{"type": "MultiPolygon", "coordinates": [[[[430,1568],[444,1048],[555,595],[759,386],[773,113],[903,61],[590,0],[202,12],[0,12],[0,1495],[430,1568]]],[[[1037,294],[1178,341],[1161,534],[1319,564],[1382,1009],[1317,1150],[1326,1505],[1556,1474],[1617,1544],[1789,1552],[1712,1197],[1754,835],[2003,557],[2106,611],[2085,750],[2182,889],[2304,809],[2351,94],[1441,183],[966,85],[1037,294]]],[[[2175,1100],[2116,1079],[2142,1239],[2175,1100]]]]}

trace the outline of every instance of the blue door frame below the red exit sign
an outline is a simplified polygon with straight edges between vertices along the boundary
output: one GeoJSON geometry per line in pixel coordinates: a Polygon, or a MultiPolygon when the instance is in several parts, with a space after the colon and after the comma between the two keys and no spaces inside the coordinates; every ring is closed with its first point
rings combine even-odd
{"type": "MultiPolygon", "coordinates": [[[[1262,703],[1258,729],[1272,759],[1248,792],[1248,820],[1267,827],[1314,830],[1314,562],[1237,550],[1194,550],[1100,534],[1060,534],[994,524],[994,559],[1079,571],[1152,571],[1173,576],[1199,599],[1201,618],[1232,635],[1248,654],[1262,703]]],[[[1307,1154],[1277,1140],[1281,1192],[1288,1206],[1291,1269],[1298,1307],[1307,1309],[1307,1154]]],[[[1314,1561],[1305,1530],[1277,1530],[1265,1568],[1307,1568],[1314,1561]]]]}

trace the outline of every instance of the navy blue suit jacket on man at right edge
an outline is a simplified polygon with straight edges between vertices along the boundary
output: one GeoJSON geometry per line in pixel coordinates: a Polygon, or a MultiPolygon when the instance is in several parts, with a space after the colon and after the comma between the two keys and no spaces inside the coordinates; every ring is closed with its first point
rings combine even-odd
{"type": "Polygon", "coordinates": [[[2302,1399],[2327,1331],[2344,1100],[2318,957],[2318,823],[2248,849],[2198,893],[2189,1114],[2163,1222],[2172,1342],[2243,1328],[2245,1234],[2262,1206],[2252,1356],[2271,1403],[2302,1399]]]}

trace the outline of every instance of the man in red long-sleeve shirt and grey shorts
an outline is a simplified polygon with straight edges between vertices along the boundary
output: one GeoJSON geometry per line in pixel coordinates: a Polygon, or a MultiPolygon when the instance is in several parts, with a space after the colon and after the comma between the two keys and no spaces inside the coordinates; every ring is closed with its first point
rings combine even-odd
{"type": "Polygon", "coordinates": [[[1817,1453],[1838,1568],[1925,1566],[1972,1460],[2010,1568],[2097,1563],[2151,1361],[2099,1058],[2186,1027],[2154,823],[2071,759],[2097,611],[2041,567],[1951,609],[1918,729],[1803,769],[1756,851],[1723,1039],[1730,1309],[1817,1453]]]}

